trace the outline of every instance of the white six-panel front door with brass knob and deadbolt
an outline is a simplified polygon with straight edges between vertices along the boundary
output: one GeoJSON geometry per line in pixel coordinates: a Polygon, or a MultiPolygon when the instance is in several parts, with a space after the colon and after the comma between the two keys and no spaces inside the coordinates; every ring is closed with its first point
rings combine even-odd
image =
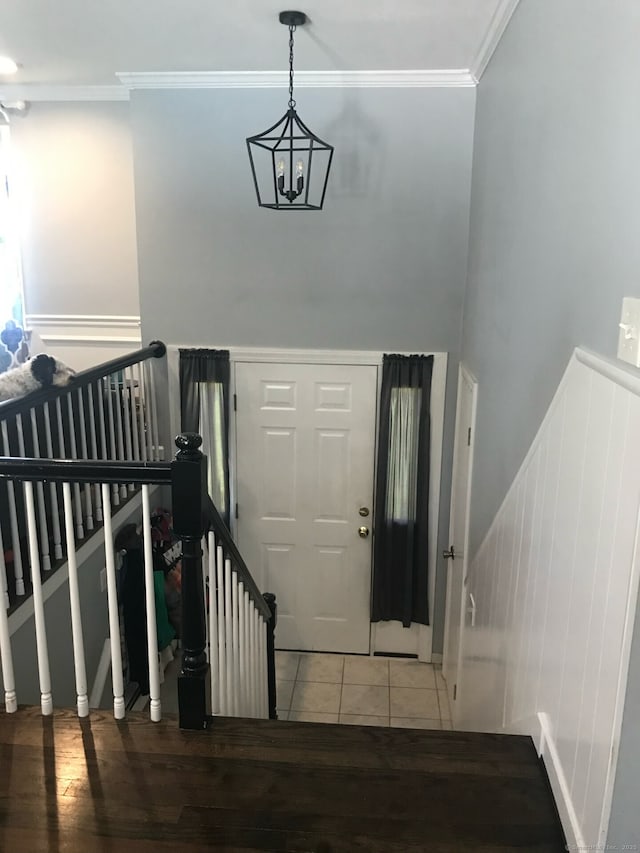
{"type": "Polygon", "coordinates": [[[238,545],[276,647],[366,653],[377,367],[238,362],[235,384],[238,545]]]}

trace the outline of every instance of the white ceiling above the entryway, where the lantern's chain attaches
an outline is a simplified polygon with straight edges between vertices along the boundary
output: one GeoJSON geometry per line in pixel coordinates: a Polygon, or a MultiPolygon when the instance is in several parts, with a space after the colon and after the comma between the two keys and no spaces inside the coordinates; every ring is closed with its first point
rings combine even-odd
{"type": "MultiPolygon", "coordinates": [[[[517,0],[309,0],[300,71],[466,70],[479,77],[517,0]]],[[[275,0],[20,0],[2,11],[0,54],[20,68],[0,93],[120,85],[117,72],[282,71],[275,0]]],[[[22,94],[20,95],[23,96],[22,94]]]]}

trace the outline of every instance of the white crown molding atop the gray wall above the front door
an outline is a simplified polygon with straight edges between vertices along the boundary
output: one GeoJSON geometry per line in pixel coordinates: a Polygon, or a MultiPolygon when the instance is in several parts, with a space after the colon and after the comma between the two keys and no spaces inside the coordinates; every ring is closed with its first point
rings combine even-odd
{"type": "MultiPolygon", "coordinates": [[[[135,89],[280,89],[289,85],[286,71],[127,72],[116,74],[135,89]]],[[[442,71],[296,71],[296,88],[429,88],[475,86],[466,68],[442,71]]]]}

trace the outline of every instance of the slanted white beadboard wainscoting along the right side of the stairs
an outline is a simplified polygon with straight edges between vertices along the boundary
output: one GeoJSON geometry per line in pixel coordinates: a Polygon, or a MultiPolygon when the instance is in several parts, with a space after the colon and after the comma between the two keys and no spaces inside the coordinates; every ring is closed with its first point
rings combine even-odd
{"type": "Polygon", "coordinates": [[[640,372],[576,350],[468,575],[456,725],[534,737],[570,849],[606,841],[639,472],[640,372]]]}

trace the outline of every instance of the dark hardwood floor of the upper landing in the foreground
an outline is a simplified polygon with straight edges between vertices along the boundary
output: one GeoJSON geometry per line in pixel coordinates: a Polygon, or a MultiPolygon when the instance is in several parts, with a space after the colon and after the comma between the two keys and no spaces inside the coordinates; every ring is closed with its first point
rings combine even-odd
{"type": "Polygon", "coordinates": [[[0,716],[2,853],[562,851],[530,740],[130,714],[0,716]]]}

